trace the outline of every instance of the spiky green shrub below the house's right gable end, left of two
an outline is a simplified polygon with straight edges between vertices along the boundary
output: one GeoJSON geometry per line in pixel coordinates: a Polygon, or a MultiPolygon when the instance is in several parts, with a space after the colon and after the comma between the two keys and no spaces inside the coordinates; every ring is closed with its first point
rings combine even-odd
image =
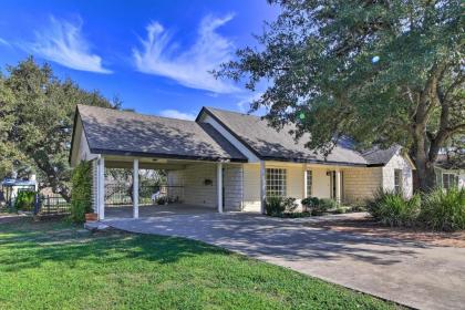
{"type": "Polygon", "coordinates": [[[379,190],[369,203],[369,213],[381,223],[390,226],[413,226],[420,213],[421,197],[414,195],[406,199],[402,194],[379,190]]]}

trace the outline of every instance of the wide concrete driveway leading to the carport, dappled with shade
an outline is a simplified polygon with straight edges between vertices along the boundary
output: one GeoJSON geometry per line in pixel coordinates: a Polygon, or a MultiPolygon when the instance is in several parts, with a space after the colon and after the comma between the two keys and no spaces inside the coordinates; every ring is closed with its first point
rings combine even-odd
{"type": "Polygon", "coordinates": [[[326,218],[197,214],[110,219],[133,232],[202,240],[420,309],[465,308],[465,249],[302,226],[326,218]]]}

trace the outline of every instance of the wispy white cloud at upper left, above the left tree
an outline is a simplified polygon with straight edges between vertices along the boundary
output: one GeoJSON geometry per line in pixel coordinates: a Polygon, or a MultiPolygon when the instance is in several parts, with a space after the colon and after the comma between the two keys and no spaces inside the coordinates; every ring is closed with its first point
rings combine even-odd
{"type": "Polygon", "coordinates": [[[102,58],[91,52],[90,43],[82,35],[82,20],[66,21],[50,17],[46,28],[34,32],[31,42],[20,44],[25,51],[61,65],[96,73],[112,73],[103,68],[102,58]]]}

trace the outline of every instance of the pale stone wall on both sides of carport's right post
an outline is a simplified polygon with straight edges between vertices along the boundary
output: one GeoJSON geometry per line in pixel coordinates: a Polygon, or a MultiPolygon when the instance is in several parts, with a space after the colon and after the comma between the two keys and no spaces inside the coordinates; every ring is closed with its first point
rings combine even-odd
{"type": "MultiPolygon", "coordinates": [[[[241,210],[242,170],[240,165],[224,164],[225,210],[241,210]]],[[[184,204],[217,207],[217,166],[216,164],[192,164],[182,170],[168,172],[168,185],[183,186],[180,200],[184,204]],[[206,185],[205,180],[211,180],[206,185]]],[[[169,189],[168,189],[169,190],[169,189]]]]}

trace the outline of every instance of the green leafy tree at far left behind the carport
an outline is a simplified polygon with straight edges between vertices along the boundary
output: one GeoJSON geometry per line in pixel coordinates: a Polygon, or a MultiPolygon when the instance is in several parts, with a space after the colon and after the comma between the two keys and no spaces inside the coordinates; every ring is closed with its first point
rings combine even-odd
{"type": "Polygon", "coordinates": [[[76,104],[118,107],[97,91],[61,81],[32,58],[0,75],[0,177],[38,174],[40,187],[70,199],[68,162],[76,104]]]}

